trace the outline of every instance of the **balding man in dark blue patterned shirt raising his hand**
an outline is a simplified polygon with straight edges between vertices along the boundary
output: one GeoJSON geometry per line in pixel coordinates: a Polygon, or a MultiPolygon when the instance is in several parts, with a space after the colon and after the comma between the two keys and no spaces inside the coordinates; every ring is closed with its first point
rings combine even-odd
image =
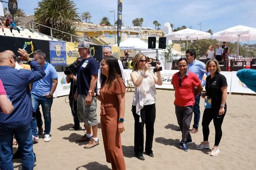
{"type": "Polygon", "coordinates": [[[23,169],[32,170],[34,167],[33,141],[30,128],[33,106],[29,84],[45,76],[43,68],[29,58],[26,51],[19,49],[22,57],[33,71],[15,69],[15,61],[11,54],[0,53],[0,79],[6,93],[14,106],[9,115],[0,114],[0,169],[13,169],[12,142],[15,135],[19,150],[22,154],[23,169]]]}

